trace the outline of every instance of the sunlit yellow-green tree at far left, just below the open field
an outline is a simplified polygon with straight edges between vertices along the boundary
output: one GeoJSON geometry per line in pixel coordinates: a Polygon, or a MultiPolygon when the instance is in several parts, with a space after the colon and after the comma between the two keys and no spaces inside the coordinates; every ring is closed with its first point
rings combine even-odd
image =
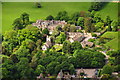
{"type": "Polygon", "coordinates": [[[10,54],[13,52],[13,49],[18,45],[17,31],[6,31],[3,34],[3,39],[2,47],[4,48],[3,50],[5,51],[5,55],[10,56],[10,54]]]}

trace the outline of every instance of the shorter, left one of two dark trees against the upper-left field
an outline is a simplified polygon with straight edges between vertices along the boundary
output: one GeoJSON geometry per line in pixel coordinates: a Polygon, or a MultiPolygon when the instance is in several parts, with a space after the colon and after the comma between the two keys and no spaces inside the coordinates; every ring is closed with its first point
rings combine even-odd
{"type": "Polygon", "coordinates": [[[13,29],[14,30],[18,30],[18,29],[24,28],[21,18],[15,19],[12,25],[13,25],[13,29]]]}

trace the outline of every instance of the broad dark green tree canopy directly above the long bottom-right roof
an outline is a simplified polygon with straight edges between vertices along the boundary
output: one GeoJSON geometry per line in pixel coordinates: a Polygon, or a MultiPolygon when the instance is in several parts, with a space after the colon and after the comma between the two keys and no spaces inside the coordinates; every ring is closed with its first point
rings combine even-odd
{"type": "Polygon", "coordinates": [[[78,49],[74,51],[73,57],[76,61],[75,68],[103,67],[105,64],[105,56],[97,51],[78,49]]]}

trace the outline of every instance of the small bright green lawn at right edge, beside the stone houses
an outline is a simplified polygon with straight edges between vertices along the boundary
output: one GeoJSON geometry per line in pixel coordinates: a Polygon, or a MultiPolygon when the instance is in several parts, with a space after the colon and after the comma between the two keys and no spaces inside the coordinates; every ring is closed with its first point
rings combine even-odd
{"type": "Polygon", "coordinates": [[[110,46],[110,48],[118,50],[118,32],[106,32],[102,35],[102,37],[112,38],[105,45],[110,46]]]}

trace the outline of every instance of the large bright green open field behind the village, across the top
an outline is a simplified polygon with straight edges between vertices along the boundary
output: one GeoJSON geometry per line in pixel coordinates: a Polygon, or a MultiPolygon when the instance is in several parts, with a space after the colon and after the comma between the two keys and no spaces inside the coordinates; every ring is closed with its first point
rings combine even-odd
{"type": "MultiPolygon", "coordinates": [[[[74,12],[87,11],[90,2],[42,2],[42,8],[35,8],[34,2],[4,2],[2,3],[2,32],[12,29],[13,21],[23,12],[30,15],[30,20],[45,19],[48,15],[56,16],[59,11],[66,10],[70,15],[74,12]]],[[[108,3],[101,15],[110,15],[112,19],[117,17],[117,3],[108,3]]]]}

